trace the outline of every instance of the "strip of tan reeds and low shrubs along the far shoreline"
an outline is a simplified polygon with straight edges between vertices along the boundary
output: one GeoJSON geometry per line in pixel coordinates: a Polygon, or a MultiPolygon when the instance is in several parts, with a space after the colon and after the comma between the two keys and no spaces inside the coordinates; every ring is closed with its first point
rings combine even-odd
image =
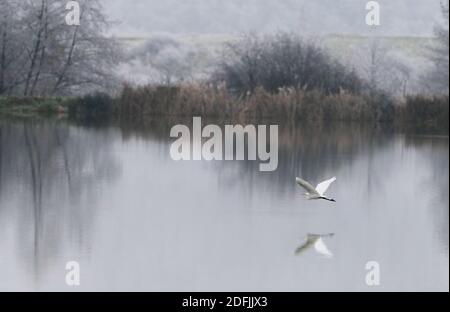
{"type": "Polygon", "coordinates": [[[293,88],[270,93],[256,88],[252,94],[237,97],[224,87],[206,84],[124,86],[121,94],[114,98],[103,93],[73,98],[0,98],[0,114],[15,117],[57,114],[78,121],[201,116],[284,122],[389,122],[447,133],[448,108],[448,96],[411,96],[400,101],[380,93],[324,94],[293,88]]]}

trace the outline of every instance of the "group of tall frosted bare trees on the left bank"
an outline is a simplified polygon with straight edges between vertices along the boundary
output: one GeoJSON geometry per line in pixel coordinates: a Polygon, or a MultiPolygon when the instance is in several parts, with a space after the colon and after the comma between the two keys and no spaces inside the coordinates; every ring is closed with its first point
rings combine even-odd
{"type": "Polygon", "coordinates": [[[119,45],[100,0],[80,0],[79,26],[65,2],[1,0],[0,94],[64,95],[111,88],[119,45]],[[9,83],[7,83],[9,82],[9,83]]]}

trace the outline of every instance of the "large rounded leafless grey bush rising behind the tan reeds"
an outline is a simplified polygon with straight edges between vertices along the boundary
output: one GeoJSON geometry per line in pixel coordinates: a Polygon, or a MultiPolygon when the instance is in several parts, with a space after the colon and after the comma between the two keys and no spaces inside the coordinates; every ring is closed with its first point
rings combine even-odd
{"type": "Polygon", "coordinates": [[[285,87],[339,93],[360,92],[363,82],[352,68],[346,68],[320,47],[298,36],[244,36],[230,44],[214,75],[237,93],[253,92],[261,86],[278,92],[285,87]]]}

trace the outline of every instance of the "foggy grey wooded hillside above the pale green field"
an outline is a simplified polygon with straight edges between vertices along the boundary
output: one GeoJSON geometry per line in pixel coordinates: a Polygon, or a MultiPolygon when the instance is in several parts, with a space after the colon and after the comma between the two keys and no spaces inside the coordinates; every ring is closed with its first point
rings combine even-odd
{"type": "Polygon", "coordinates": [[[367,0],[102,1],[119,22],[112,30],[117,36],[250,31],[431,36],[442,20],[439,0],[379,0],[381,26],[376,28],[365,24],[367,0]]]}

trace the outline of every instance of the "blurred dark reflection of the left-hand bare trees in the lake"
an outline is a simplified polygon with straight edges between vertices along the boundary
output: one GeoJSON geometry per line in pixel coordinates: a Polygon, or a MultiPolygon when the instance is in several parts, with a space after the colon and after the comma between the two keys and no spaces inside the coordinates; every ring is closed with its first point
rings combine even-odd
{"type": "Polygon", "coordinates": [[[0,216],[17,217],[18,250],[33,259],[37,281],[64,245],[73,253],[89,249],[84,237],[97,214],[96,185],[120,175],[114,131],[95,131],[57,121],[0,121],[0,204],[21,193],[0,205],[0,216]]]}

